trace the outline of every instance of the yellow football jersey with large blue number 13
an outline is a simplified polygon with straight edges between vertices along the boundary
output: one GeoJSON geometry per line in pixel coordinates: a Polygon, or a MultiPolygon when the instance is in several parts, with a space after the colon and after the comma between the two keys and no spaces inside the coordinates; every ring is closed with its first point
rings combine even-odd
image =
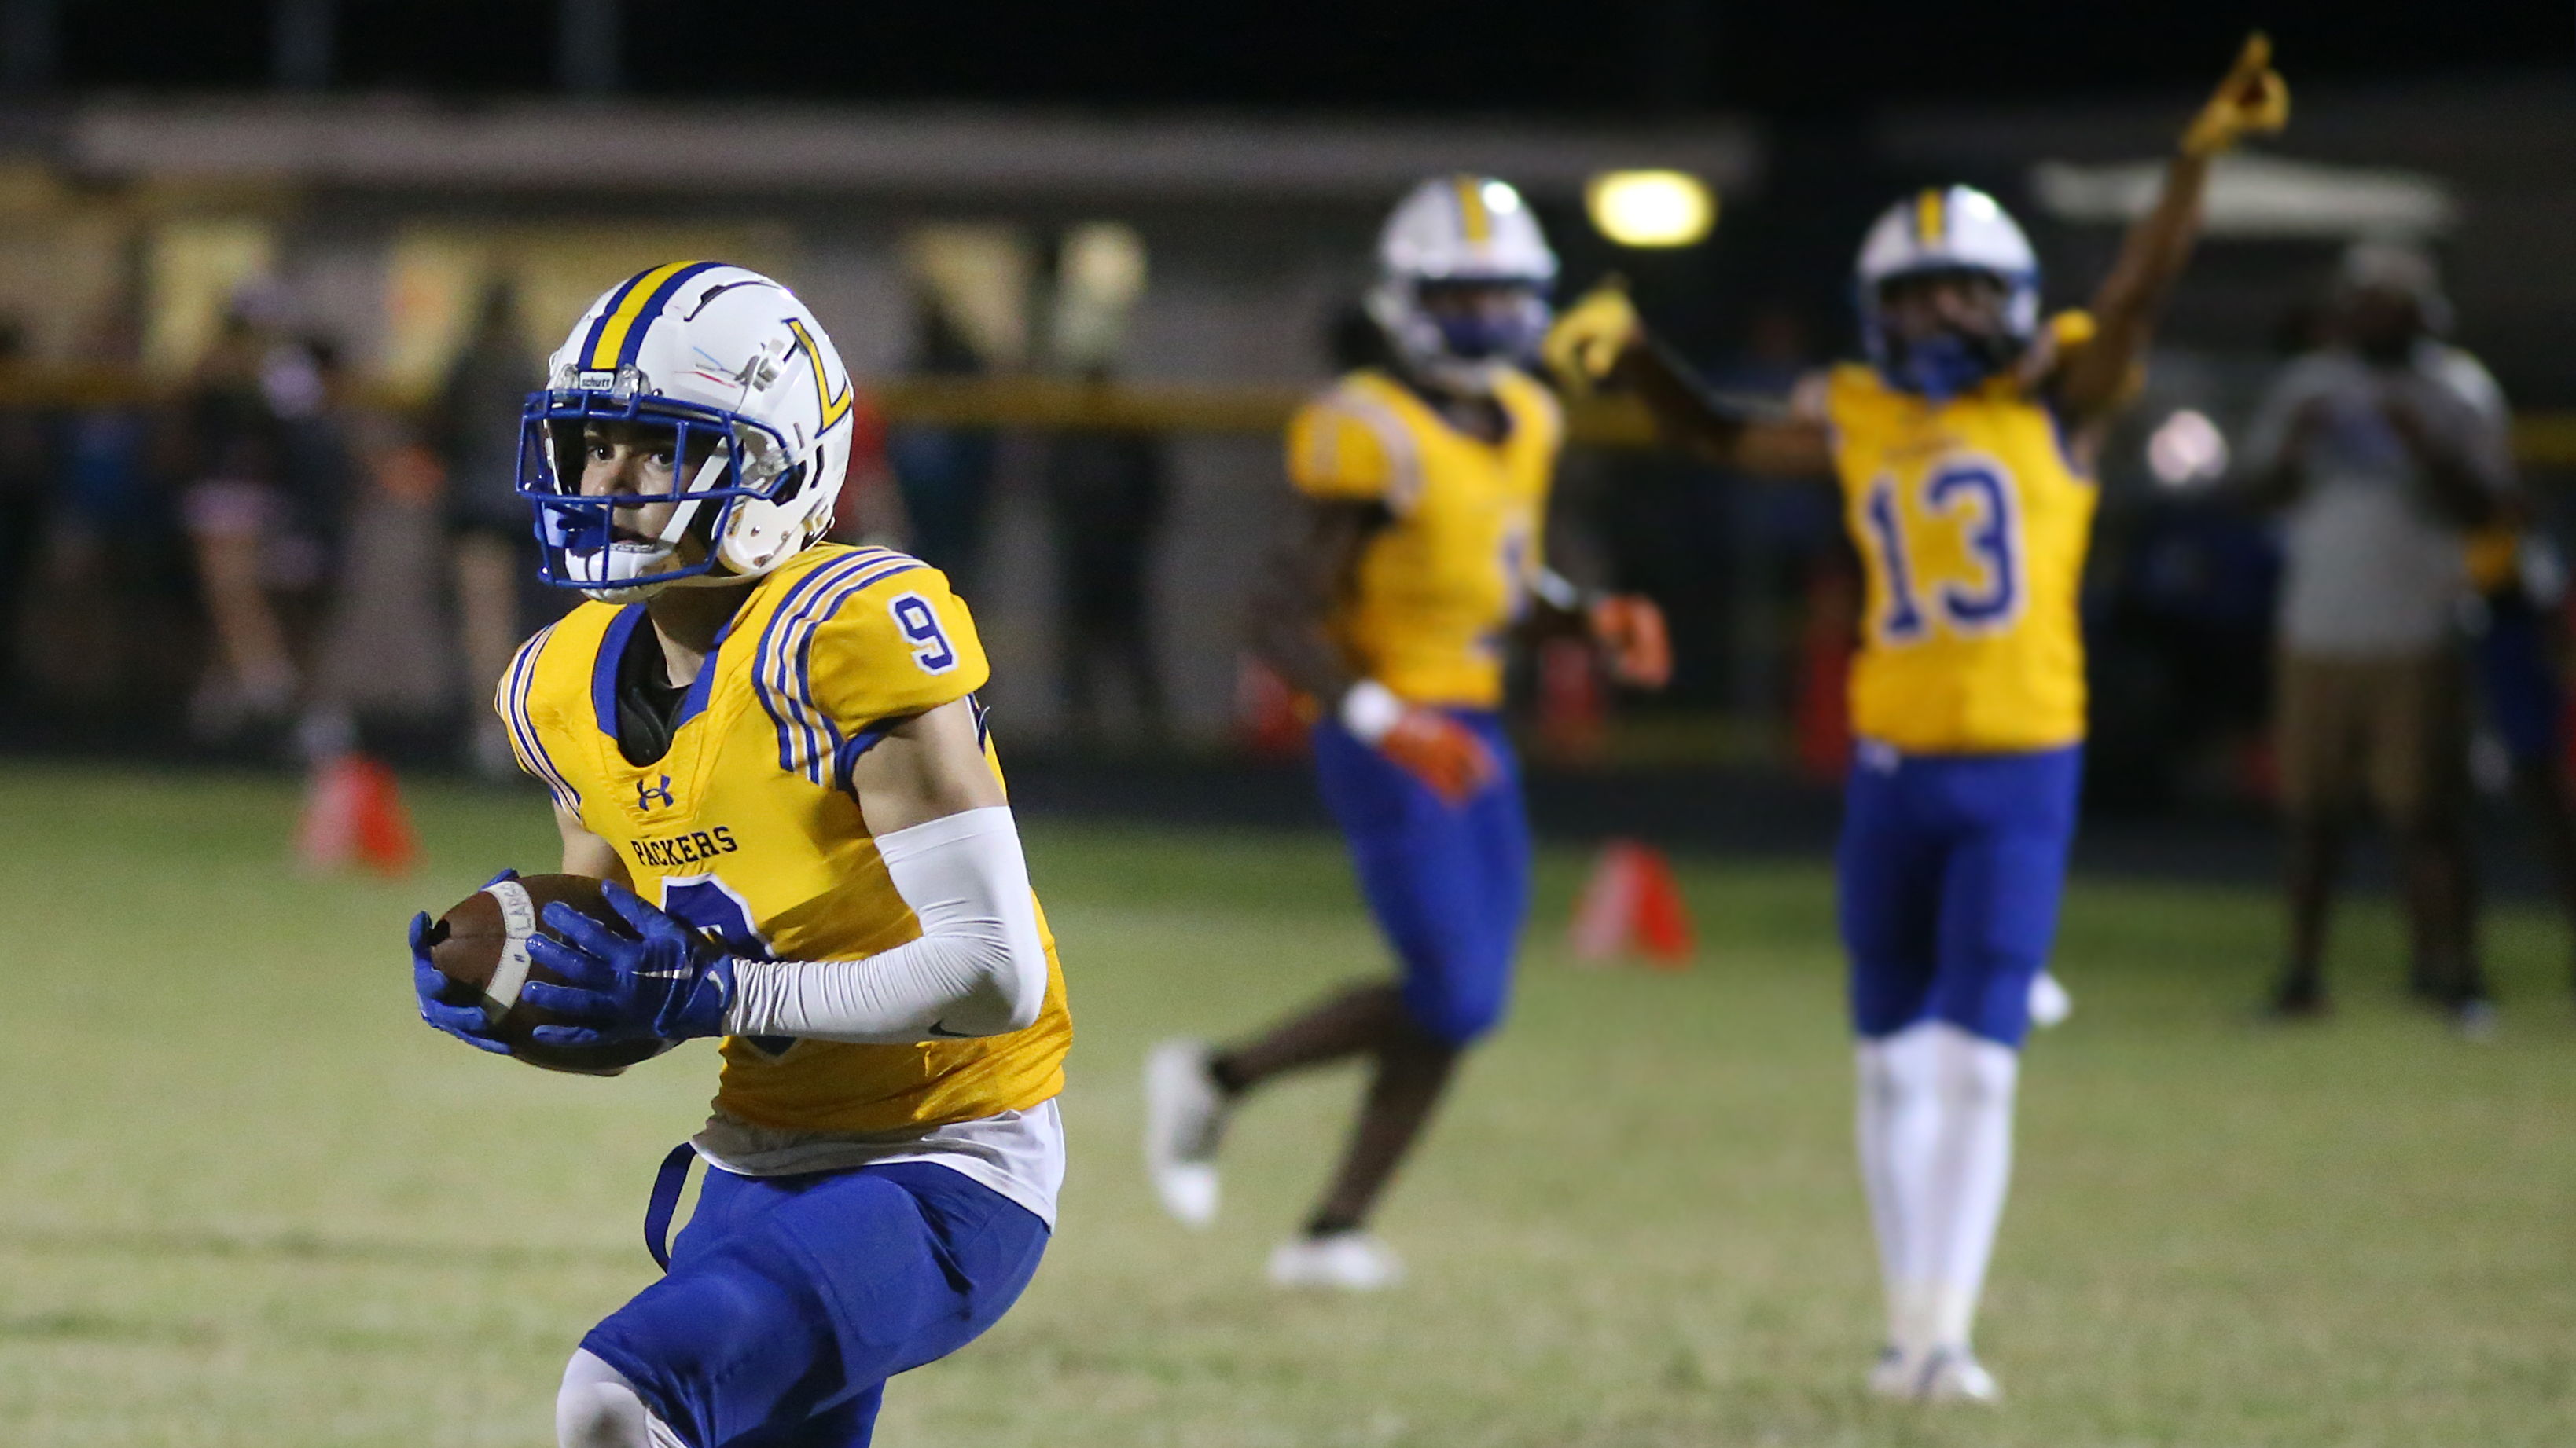
{"type": "MultiPolygon", "coordinates": [[[[2087,322],[2056,330],[2076,343],[2087,322]]],[[[1868,572],[1852,732],[1932,755],[2084,739],[2094,484],[2048,407],[2007,376],[1929,402],[1855,363],[1832,371],[1826,420],[1868,572]]]]}

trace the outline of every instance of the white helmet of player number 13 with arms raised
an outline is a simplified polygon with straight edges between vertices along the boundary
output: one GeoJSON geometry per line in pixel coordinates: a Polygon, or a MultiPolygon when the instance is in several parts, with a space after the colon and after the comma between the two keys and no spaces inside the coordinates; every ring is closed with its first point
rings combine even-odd
{"type": "MultiPolygon", "coordinates": [[[[2040,260],[2030,237],[1994,196],[1973,186],[1919,191],[1880,211],[1860,242],[1860,340],[1891,384],[1935,397],[1965,392],[1999,361],[1991,356],[1901,356],[1888,338],[1880,289],[1904,276],[1976,271],[2004,286],[2004,338],[2014,356],[2040,332],[2040,260]]],[[[1917,348],[1922,350],[1922,348],[1917,348]]]]}

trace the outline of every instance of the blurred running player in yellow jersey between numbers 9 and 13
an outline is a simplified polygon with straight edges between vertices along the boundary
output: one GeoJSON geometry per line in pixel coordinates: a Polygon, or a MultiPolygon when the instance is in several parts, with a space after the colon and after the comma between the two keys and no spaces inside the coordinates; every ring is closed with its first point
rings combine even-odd
{"type": "Polygon", "coordinates": [[[1262,1082],[1365,1056],[1368,1100],[1306,1229],[1270,1257],[1280,1286],[1401,1278],[1368,1216],[1458,1056],[1504,1010],[1528,912],[1530,830],[1502,732],[1517,631],[1571,629],[1625,683],[1672,670],[1643,598],[1584,595],[1546,569],[1564,423],[1517,363],[1556,276],[1520,193],[1425,180],[1378,240],[1370,312],[1391,361],[1296,412],[1291,533],[1255,598],[1252,647],[1319,709],[1314,763],[1401,982],[1350,987],[1229,1049],[1167,1041],[1146,1062],[1146,1162],[1182,1224],[1216,1216],[1216,1147],[1262,1082]]]}

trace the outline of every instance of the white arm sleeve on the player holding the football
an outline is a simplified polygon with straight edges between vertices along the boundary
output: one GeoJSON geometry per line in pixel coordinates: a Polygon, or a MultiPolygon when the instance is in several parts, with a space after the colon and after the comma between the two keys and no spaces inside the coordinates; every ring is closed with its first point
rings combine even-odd
{"type": "Polygon", "coordinates": [[[860,961],[739,961],[734,1036],[909,1043],[1025,1031],[1046,1005],[1046,946],[1010,806],[876,837],[922,938],[860,961]]]}

